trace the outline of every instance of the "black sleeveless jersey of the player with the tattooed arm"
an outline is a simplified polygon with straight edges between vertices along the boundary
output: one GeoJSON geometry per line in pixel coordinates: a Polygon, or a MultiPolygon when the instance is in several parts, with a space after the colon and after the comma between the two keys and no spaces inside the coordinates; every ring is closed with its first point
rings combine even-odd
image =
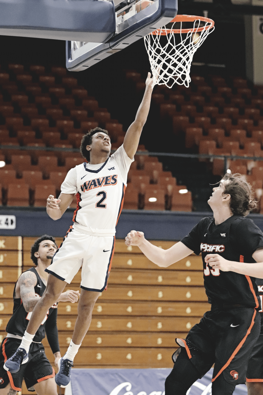
{"type": "MultiPolygon", "coordinates": [[[[28,271],[32,271],[35,273],[37,276],[37,284],[35,285],[35,293],[37,293],[39,296],[42,296],[46,286],[41,280],[39,274],[35,270],[34,267],[29,269],[28,271]]],[[[16,287],[17,284],[15,284],[16,287]]],[[[13,300],[14,300],[14,307],[13,307],[13,315],[8,321],[6,325],[6,332],[10,333],[12,335],[19,335],[19,336],[24,336],[24,332],[26,330],[26,327],[28,325],[28,321],[30,320],[32,312],[26,312],[24,309],[22,299],[21,298],[16,298],[15,297],[15,288],[13,292],[13,300]]],[[[54,311],[54,308],[58,307],[58,303],[55,303],[47,312],[44,320],[42,321],[39,329],[37,329],[37,333],[34,336],[33,341],[34,342],[41,342],[42,339],[45,337],[45,323],[47,321],[47,318],[50,317],[52,312],[54,311]]]]}

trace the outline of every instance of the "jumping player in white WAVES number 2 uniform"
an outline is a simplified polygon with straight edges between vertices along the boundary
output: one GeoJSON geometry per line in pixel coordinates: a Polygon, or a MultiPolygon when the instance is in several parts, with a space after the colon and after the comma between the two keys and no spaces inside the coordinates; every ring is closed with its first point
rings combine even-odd
{"type": "MultiPolygon", "coordinates": [[[[60,359],[56,383],[65,387],[78,348],[91,322],[94,304],[107,286],[114,254],[115,226],[121,213],[127,174],[138,148],[142,128],[149,113],[152,94],[151,73],[134,122],[127,130],[123,145],[110,157],[110,138],[106,130],[95,128],[82,138],[80,150],[88,162],[71,169],[61,186],[58,199],[49,196],[47,213],[53,220],[61,218],[74,195],[77,208],[74,224],[56,251],[48,271],[47,288],[35,306],[19,350],[10,359],[17,360],[17,371],[28,355],[29,346],[47,310],[54,305],[65,285],[82,266],[78,318],[66,354],[60,359]]],[[[8,367],[9,360],[6,361],[8,367]]],[[[12,361],[10,367],[14,369],[12,361]]],[[[10,369],[9,369],[10,370],[10,369]]],[[[10,370],[11,371],[11,370],[10,370]]]]}

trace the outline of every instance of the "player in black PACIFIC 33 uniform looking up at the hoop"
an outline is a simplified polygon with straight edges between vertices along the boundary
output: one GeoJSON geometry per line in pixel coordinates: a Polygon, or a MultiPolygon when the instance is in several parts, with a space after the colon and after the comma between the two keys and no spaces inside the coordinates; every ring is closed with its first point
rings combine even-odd
{"type": "Polygon", "coordinates": [[[174,367],[166,378],[166,395],[185,395],[214,363],[213,395],[233,394],[237,384],[246,382],[248,360],[260,333],[255,275],[246,274],[250,270],[260,277],[263,272],[263,234],[252,220],[245,218],[256,207],[250,185],[240,175],[226,174],[213,188],[208,203],[214,216],[203,218],[168,250],[149,243],[142,232],[131,231],[125,238],[128,246],[137,245],[161,267],[192,252],[202,254],[211,311],[190,329],[186,339],[176,339],[180,348],[173,354],[174,367]],[[220,270],[215,262],[218,257],[236,267],[240,265],[240,271],[220,270]]]}

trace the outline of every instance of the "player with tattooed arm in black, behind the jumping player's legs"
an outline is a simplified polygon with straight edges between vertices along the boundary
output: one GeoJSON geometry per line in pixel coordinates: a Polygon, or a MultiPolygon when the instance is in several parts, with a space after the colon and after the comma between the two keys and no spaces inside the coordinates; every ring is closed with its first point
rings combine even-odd
{"type": "Polygon", "coordinates": [[[70,290],[62,293],[57,303],[48,310],[30,346],[28,359],[21,369],[11,373],[4,366],[6,360],[19,347],[32,310],[45,291],[48,276],[45,268],[50,265],[56,249],[53,237],[43,235],[37,239],[31,248],[31,258],[36,266],[22,273],[15,284],[13,315],[6,326],[7,336],[0,346],[0,395],[16,395],[17,391],[21,391],[23,378],[29,391],[35,390],[38,395],[57,395],[55,372],[45,355],[41,340],[46,333],[58,368],[61,357],[56,324],[58,301],[75,303],[78,292],[70,290]]]}

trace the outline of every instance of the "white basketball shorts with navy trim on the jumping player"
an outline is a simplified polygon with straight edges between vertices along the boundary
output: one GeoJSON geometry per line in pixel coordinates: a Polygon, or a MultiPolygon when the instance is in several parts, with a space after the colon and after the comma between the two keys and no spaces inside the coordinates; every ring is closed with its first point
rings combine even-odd
{"type": "Polygon", "coordinates": [[[114,245],[115,236],[90,236],[69,229],[45,271],[70,284],[82,266],[80,288],[102,292],[107,288],[114,245]]]}

